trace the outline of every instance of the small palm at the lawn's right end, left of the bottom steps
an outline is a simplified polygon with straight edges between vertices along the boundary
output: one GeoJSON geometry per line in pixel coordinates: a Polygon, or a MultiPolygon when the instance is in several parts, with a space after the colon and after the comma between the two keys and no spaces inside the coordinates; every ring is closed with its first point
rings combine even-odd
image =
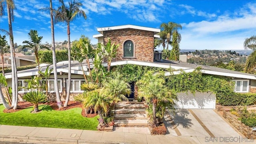
{"type": "Polygon", "coordinates": [[[100,116],[100,125],[104,124],[102,112],[107,112],[108,108],[108,95],[106,94],[106,90],[104,88],[98,88],[91,92],[88,92],[88,96],[85,98],[83,104],[85,108],[90,108],[93,106],[94,112],[98,111],[100,116]]]}

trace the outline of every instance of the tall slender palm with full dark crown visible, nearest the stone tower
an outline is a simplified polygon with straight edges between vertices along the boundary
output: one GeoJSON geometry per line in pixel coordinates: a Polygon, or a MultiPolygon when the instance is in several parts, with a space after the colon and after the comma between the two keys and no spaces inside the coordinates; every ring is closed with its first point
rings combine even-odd
{"type": "Polygon", "coordinates": [[[66,6],[63,0],[59,0],[61,6],[56,10],[55,22],[66,22],[67,24],[67,34],[68,34],[68,86],[67,86],[67,96],[64,106],[68,105],[69,95],[70,95],[70,80],[71,80],[71,50],[70,50],[70,22],[75,20],[78,16],[82,16],[86,19],[86,14],[83,10],[80,10],[82,3],[77,0],[72,0],[68,2],[66,6]]]}

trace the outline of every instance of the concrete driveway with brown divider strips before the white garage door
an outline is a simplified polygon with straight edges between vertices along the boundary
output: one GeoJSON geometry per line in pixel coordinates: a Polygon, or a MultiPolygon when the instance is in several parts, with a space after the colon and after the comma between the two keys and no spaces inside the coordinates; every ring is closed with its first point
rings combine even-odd
{"type": "Polygon", "coordinates": [[[205,142],[211,138],[241,138],[213,109],[180,109],[167,114],[165,120],[168,133],[173,136],[192,136],[205,142]]]}

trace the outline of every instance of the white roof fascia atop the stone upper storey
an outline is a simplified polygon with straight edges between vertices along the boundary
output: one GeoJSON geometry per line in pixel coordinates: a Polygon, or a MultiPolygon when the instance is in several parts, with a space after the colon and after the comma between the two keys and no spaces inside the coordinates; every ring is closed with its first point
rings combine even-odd
{"type": "Polygon", "coordinates": [[[144,26],[135,26],[135,25],[122,25],[122,26],[110,26],[110,27],[103,27],[103,28],[97,28],[97,31],[103,34],[103,31],[107,30],[120,30],[120,29],[125,29],[125,28],[132,28],[132,29],[137,29],[137,30],[146,30],[146,31],[151,31],[154,32],[154,34],[157,34],[160,32],[159,28],[149,28],[149,27],[144,27],[144,26]]]}

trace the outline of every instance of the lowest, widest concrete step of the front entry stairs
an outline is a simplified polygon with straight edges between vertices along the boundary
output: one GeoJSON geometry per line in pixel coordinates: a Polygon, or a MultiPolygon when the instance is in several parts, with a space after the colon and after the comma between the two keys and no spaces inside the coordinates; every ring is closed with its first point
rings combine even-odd
{"type": "Polygon", "coordinates": [[[148,120],[114,120],[114,126],[148,127],[148,120]]]}

